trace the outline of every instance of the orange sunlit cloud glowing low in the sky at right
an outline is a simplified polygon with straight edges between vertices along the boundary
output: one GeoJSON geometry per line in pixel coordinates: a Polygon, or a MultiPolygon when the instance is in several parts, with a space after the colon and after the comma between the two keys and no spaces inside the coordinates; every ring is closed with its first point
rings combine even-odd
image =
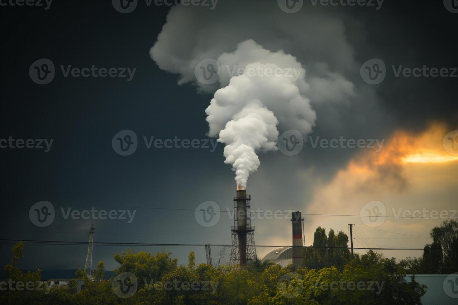
{"type": "MultiPolygon", "coordinates": [[[[316,188],[312,201],[306,204],[305,209],[310,214],[323,214],[323,211],[327,211],[329,214],[356,217],[309,217],[309,227],[314,229],[321,225],[327,229],[346,230],[349,222],[366,226],[358,215],[366,203],[375,200],[385,205],[389,216],[393,216],[393,211],[399,209],[456,209],[458,156],[447,152],[450,147],[446,148],[448,143],[444,141],[450,131],[450,128],[441,123],[433,123],[417,134],[398,130],[385,140],[379,152],[362,150],[333,179],[316,188]]],[[[452,150],[456,150],[456,147],[453,146],[452,150]]],[[[387,218],[379,228],[428,236],[429,230],[438,224],[438,220],[431,219],[387,218]]],[[[374,238],[399,237],[380,231],[369,230],[365,233],[374,238]]],[[[359,243],[364,241],[361,236],[354,237],[356,244],[365,247],[365,244],[359,243]]],[[[313,231],[307,231],[305,238],[310,244],[313,231]]],[[[380,243],[377,239],[371,241],[380,243]]],[[[385,243],[395,247],[408,243],[409,246],[422,248],[425,241],[393,239],[385,243]]],[[[399,255],[403,258],[419,254],[414,251],[387,252],[386,255],[399,255]]]]}

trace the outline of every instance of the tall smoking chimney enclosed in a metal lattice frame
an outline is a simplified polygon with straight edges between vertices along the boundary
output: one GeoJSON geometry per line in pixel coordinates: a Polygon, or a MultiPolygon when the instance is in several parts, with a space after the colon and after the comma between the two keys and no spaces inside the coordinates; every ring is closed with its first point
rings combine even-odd
{"type": "Polygon", "coordinates": [[[251,195],[247,195],[246,190],[237,190],[237,197],[234,197],[234,226],[231,226],[231,266],[245,267],[256,258],[255,227],[251,225],[250,209],[251,195]]]}

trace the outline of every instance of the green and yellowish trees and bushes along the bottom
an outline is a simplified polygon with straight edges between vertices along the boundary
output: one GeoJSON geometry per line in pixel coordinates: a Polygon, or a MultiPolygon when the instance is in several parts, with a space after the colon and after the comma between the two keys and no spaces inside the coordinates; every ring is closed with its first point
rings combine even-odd
{"type": "MultiPolygon", "coordinates": [[[[431,230],[433,243],[427,245],[429,250],[425,247],[423,257],[399,263],[374,251],[352,258],[348,249],[335,248],[347,247],[348,236],[343,232],[335,234],[334,230],[326,235],[321,227],[314,235],[313,246],[318,248],[305,247],[303,268],[299,269],[259,259],[244,269],[196,266],[192,251],[188,265],[178,266],[171,253],[134,253],[127,249],[114,254],[119,263],[114,273],[135,275],[135,293],[128,298],[113,288],[119,279],[104,280],[104,262],[99,262],[91,279],[82,270],[76,272],[76,279],[84,279],[85,283],[80,292],[76,280],[66,288],[0,289],[0,304],[420,304],[426,287],[414,280],[407,282],[405,275],[417,273],[413,272],[415,268],[431,268],[426,266],[433,262],[441,268],[437,271],[458,271],[456,251],[443,251],[439,256],[442,250],[431,250],[439,246],[456,249],[456,229],[456,222],[445,221],[431,230]],[[171,289],[164,288],[167,283],[171,289]],[[197,289],[181,286],[182,283],[197,283],[197,289]],[[362,283],[362,289],[348,283],[362,283]],[[372,289],[368,289],[370,283],[372,289]]],[[[22,273],[17,268],[22,250],[22,243],[13,247],[11,263],[4,268],[4,281],[39,283],[40,270],[22,273]]]]}

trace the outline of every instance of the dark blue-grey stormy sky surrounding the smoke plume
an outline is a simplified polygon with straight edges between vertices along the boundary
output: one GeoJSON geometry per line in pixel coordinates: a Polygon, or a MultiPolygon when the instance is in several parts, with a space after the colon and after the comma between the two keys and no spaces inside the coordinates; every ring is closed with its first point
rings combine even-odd
{"type": "MultiPolygon", "coordinates": [[[[2,238],[87,241],[87,228],[94,221],[62,219],[60,207],[194,209],[207,200],[219,203],[222,209],[231,207],[234,173],[223,163],[222,144],[210,152],[209,149],[146,149],[142,142],[143,136],[207,138],[205,108],[212,96],[196,93],[189,84],[177,85],[177,76],[160,70],[150,58],[148,51],[166,22],[169,8],[148,7],[140,2],[141,9],[129,14],[115,11],[110,1],[55,0],[49,10],[0,7],[0,138],[54,139],[46,153],[0,149],[2,238]],[[30,65],[41,58],[51,59],[56,67],[54,80],[42,86],[28,75],[30,65]],[[131,81],[111,77],[65,78],[60,65],[129,67],[136,68],[136,72],[131,81]],[[139,137],[139,148],[127,157],[116,154],[111,146],[114,134],[123,129],[131,129],[139,137]],[[31,223],[28,212],[34,203],[42,200],[53,203],[58,215],[52,225],[38,228],[31,223]]],[[[262,2],[259,1],[260,5],[262,2]]],[[[386,0],[379,11],[357,6],[329,7],[329,14],[342,16],[346,35],[360,62],[378,57],[387,66],[457,67],[458,14],[445,10],[442,1],[431,2],[386,0]],[[364,32],[352,32],[356,27],[364,32]]],[[[243,4],[234,2],[234,5],[240,5],[243,10],[243,4]]],[[[278,14],[284,13],[278,10],[278,14]]],[[[251,18],[256,22],[256,16],[251,18]]],[[[456,83],[457,78],[397,79],[388,75],[377,90],[381,102],[380,110],[375,111],[380,117],[372,118],[376,123],[363,128],[364,122],[347,122],[344,129],[348,134],[344,135],[387,136],[396,128],[419,132],[431,120],[452,125],[458,121],[456,83]]],[[[350,118],[352,107],[342,107],[339,115],[350,118]]],[[[314,133],[332,135],[320,124],[327,120],[320,117],[320,107],[316,111],[314,133]]],[[[319,167],[321,178],[326,180],[353,153],[311,152],[298,159],[304,166],[313,163],[319,167]]],[[[298,186],[288,174],[290,169],[284,156],[262,155],[261,163],[248,185],[252,205],[256,202],[275,207],[281,202],[284,209],[304,208],[308,198],[295,191],[298,186]],[[279,159],[284,160],[282,166],[278,165],[279,159]],[[273,178],[266,182],[263,175],[273,178]]],[[[296,167],[297,163],[291,166],[296,167]]],[[[131,224],[126,220],[94,223],[96,241],[230,244],[232,220],[222,216],[209,231],[196,222],[192,211],[137,209],[131,224]]],[[[283,231],[267,229],[264,233],[288,234],[289,231],[286,223],[283,231]]],[[[105,261],[111,270],[116,267],[113,253],[124,249],[123,246],[94,247],[93,259],[105,261]]],[[[196,252],[198,262],[205,259],[203,247],[165,250],[172,251],[180,262],[185,262],[189,250],[196,252]]],[[[11,245],[0,245],[2,265],[10,260],[10,251],[11,245]]],[[[27,245],[21,267],[82,268],[86,251],[86,246],[27,245]]]]}

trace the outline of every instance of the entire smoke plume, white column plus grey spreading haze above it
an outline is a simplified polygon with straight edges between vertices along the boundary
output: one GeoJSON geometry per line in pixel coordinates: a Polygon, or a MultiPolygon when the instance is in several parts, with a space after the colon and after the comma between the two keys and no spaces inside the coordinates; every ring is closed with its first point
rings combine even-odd
{"type": "Polygon", "coordinates": [[[218,11],[174,7],[150,51],[161,69],[180,74],[179,84],[192,82],[199,91],[214,92],[206,109],[208,134],[226,145],[225,163],[232,165],[242,188],[260,165],[257,153],[278,150],[278,130],[296,129],[304,136],[311,132],[316,120],[311,102],[341,102],[355,95],[353,83],[342,75],[354,61],[337,19],[320,16],[319,23],[326,26],[313,28],[317,14],[308,15],[300,19],[303,30],[296,33],[292,29],[298,19],[277,14],[281,20],[273,22],[272,16],[259,15],[257,6],[244,8],[265,22],[253,26],[230,6],[218,11]],[[230,22],[230,31],[226,15],[237,19],[230,22]],[[307,78],[305,66],[283,47],[310,55],[307,78]],[[196,81],[196,66],[204,59],[218,61],[218,82],[196,81]]]}

